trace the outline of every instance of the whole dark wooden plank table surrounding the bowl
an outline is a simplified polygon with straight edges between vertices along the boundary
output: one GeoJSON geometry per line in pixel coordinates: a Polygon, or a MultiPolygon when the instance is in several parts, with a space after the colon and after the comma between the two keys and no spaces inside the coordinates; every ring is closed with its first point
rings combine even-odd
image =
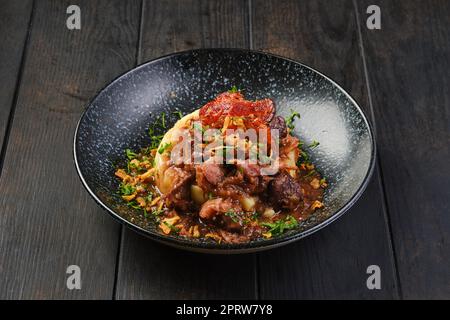
{"type": "Polygon", "coordinates": [[[449,1],[4,0],[0,34],[0,298],[450,298],[449,1]],[[81,30],[66,27],[71,4],[81,30]],[[366,27],[371,4],[381,30],[366,27]],[[201,47],[297,59],[355,97],[379,153],[346,215],[280,249],[214,256],[143,238],[94,203],[72,160],[89,100],[201,47]],[[81,290],[66,287],[69,265],[81,290]]]}

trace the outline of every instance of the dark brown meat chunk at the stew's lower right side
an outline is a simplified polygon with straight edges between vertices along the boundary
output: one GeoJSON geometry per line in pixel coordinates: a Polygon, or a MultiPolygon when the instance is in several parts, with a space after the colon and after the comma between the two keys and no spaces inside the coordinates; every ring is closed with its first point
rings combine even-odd
{"type": "Polygon", "coordinates": [[[300,184],[286,172],[279,173],[270,182],[269,193],[272,202],[283,209],[294,209],[302,200],[300,184]]]}

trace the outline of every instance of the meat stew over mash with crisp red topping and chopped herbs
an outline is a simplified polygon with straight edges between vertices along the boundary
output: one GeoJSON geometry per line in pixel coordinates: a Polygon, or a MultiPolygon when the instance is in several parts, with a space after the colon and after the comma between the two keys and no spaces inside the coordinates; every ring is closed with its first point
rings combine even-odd
{"type": "Polygon", "coordinates": [[[169,130],[161,114],[151,144],[127,149],[126,166],[115,171],[121,197],[165,235],[245,243],[295,229],[324,207],[327,187],[307,153],[319,143],[305,146],[292,134],[298,118],[235,87],[180,114],[169,130]]]}

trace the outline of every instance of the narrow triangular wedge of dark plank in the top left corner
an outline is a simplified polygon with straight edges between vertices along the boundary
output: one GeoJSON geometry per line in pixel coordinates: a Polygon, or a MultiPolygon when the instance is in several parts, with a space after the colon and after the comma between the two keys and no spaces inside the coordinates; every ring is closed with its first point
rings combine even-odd
{"type": "MultiPolygon", "coordinates": [[[[0,150],[20,77],[20,66],[30,24],[33,1],[0,2],[0,150]]],[[[0,158],[1,161],[1,158],[0,158]]],[[[0,164],[1,168],[1,164],[0,164]]]]}

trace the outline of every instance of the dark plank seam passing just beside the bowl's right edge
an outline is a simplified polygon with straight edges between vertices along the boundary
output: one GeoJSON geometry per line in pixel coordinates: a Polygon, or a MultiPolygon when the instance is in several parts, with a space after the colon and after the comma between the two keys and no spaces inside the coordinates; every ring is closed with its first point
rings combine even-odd
{"type": "MultiPolygon", "coordinates": [[[[370,116],[372,118],[375,140],[377,140],[376,139],[377,138],[377,129],[376,129],[376,122],[375,122],[375,111],[374,111],[372,91],[371,91],[371,86],[370,86],[369,71],[368,71],[368,66],[367,66],[367,61],[366,61],[366,53],[365,53],[365,49],[364,49],[362,27],[361,27],[361,23],[359,20],[360,19],[359,7],[358,7],[356,0],[353,0],[353,8],[355,10],[356,25],[357,25],[357,29],[358,29],[358,43],[359,43],[359,48],[361,51],[361,60],[362,60],[363,71],[364,71],[364,80],[365,80],[365,84],[366,84],[366,88],[367,88],[367,96],[368,96],[368,100],[369,100],[370,116]]],[[[378,177],[379,187],[381,189],[381,197],[382,197],[381,202],[382,202],[382,208],[383,208],[383,216],[384,216],[384,220],[385,220],[384,222],[388,229],[388,238],[389,238],[388,240],[389,240],[389,246],[390,246],[391,254],[392,254],[392,257],[391,257],[391,261],[393,264],[392,268],[395,271],[395,286],[397,289],[396,291],[397,291],[398,298],[403,299],[400,274],[399,274],[399,270],[398,270],[398,258],[397,258],[397,253],[395,250],[395,244],[394,244],[394,240],[393,240],[394,238],[393,238],[393,234],[392,234],[392,223],[391,223],[390,214],[389,214],[389,205],[387,203],[386,188],[385,188],[385,184],[384,184],[384,180],[383,180],[383,168],[381,166],[379,150],[377,152],[376,163],[378,166],[377,177],[378,177]]]]}

